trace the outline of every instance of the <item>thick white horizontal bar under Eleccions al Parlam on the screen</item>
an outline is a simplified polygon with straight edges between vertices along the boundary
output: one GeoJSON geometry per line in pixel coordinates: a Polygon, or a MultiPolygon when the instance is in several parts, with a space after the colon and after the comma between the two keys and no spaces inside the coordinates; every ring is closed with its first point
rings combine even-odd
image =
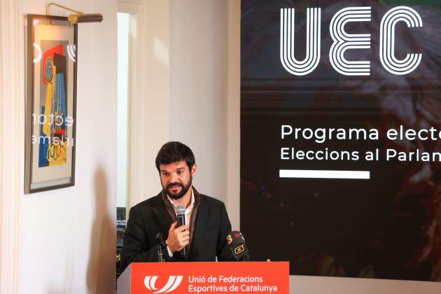
{"type": "Polygon", "coordinates": [[[302,179],[370,179],[370,172],[366,171],[325,171],[308,169],[280,169],[280,178],[302,179]]]}

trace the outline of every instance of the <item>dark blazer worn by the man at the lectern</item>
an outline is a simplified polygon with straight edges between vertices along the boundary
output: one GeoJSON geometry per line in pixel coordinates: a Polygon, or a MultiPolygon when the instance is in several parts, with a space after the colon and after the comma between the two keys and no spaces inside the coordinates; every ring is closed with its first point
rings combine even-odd
{"type": "MultiPolygon", "coordinates": [[[[200,200],[197,205],[195,225],[190,251],[186,260],[174,253],[169,257],[167,248],[162,256],[168,261],[233,261],[227,235],[231,231],[230,220],[223,202],[193,190],[200,200]]],[[[151,197],[130,209],[121,254],[121,272],[131,262],[158,262],[158,232],[167,239],[172,217],[167,212],[162,193],[151,197]]]]}

